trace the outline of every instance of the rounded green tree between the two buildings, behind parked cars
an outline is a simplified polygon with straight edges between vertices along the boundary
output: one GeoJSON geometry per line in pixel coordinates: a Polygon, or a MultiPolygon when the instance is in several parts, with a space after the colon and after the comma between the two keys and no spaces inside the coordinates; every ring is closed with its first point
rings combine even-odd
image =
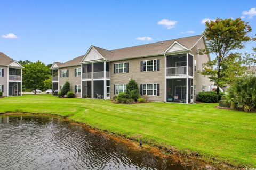
{"type": "Polygon", "coordinates": [[[41,61],[26,64],[22,71],[23,84],[27,89],[44,89],[44,81],[51,76],[50,69],[41,61]]]}

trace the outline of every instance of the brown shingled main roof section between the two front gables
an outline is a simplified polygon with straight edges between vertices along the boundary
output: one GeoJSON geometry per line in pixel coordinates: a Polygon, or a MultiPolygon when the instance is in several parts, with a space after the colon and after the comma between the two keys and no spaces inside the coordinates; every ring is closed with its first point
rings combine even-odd
{"type": "Polygon", "coordinates": [[[107,50],[96,46],[91,47],[94,47],[98,51],[98,53],[102,55],[106,60],[114,61],[129,58],[162,55],[174,43],[180,44],[181,46],[185,47],[185,49],[191,49],[201,38],[202,35],[197,35],[114,50],[107,50]]]}

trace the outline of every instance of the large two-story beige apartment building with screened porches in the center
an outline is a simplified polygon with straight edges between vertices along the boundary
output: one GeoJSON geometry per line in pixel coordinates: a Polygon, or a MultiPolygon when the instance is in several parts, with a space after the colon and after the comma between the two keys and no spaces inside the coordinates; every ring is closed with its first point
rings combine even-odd
{"type": "Polygon", "coordinates": [[[53,63],[53,90],[68,80],[76,96],[110,99],[132,78],[149,101],[191,103],[211,85],[197,72],[210,60],[198,54],[201,48],[202,35],[115,50],[91,46],[83,56],[53,63]]]}

